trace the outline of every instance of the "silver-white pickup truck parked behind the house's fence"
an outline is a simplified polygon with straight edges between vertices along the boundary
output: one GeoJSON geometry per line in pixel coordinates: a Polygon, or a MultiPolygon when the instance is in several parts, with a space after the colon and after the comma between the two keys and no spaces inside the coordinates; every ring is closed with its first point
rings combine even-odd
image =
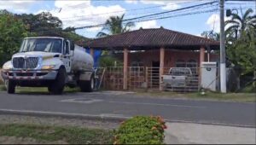
{"type": "Polygon", "coordinates": [[[192,81],[192,72],[188,67],[172,67],[167,75],[163,75],[166,89],[173,87],[188,87],[192,81]]]}

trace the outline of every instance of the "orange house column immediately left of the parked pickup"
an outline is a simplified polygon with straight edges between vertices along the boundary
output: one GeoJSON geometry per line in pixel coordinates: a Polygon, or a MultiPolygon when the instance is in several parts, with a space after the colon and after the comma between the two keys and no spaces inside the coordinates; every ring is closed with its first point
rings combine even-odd
{"type": "Polygon", "coordinates": [[[164,67],[165,67],[165,48],[160,48],[160,70],[159,70],[159,90],[163,90],[163,81],[162,81],[162,75],[164,74],[164,67]]]}

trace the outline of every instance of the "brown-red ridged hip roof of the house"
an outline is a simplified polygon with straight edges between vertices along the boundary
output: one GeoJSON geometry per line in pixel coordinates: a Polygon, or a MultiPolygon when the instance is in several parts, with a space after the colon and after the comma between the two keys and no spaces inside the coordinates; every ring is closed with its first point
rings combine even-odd
{"type": "Polygon", "coordinates": [[[94,49],[128,49],[133,48],[197,48],[209,46],[211,49],[218,49],[219,42],[208,38],[201,38],[183,32],[172,30],[157,29],[140,29],[132,32],[125,32],[109,36],[106,38],[96,38],[86,42],[85,47],[94,49]]]}

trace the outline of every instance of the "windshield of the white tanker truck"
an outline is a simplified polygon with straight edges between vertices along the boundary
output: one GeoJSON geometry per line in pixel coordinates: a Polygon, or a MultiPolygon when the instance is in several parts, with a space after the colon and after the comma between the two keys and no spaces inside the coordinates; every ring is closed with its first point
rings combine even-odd
{"type": "Polygon", "coordinates": [[[44,51],[61,53],[60,38],[27,38],[21,44],[20,52],[44,51]]]}

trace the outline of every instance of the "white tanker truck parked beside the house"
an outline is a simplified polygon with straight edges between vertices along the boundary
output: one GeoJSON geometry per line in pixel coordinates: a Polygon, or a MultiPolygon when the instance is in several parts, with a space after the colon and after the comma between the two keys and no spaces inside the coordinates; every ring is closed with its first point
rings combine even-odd
{"type": "Polygon", "coordinates": [[[1,75],[9,94],[16,86],[48,87],[51,94],[61,94],[65,85],[90,92],[95,86],[93,63],[84,48],[66,38],[25,38],[1,75]]]}

